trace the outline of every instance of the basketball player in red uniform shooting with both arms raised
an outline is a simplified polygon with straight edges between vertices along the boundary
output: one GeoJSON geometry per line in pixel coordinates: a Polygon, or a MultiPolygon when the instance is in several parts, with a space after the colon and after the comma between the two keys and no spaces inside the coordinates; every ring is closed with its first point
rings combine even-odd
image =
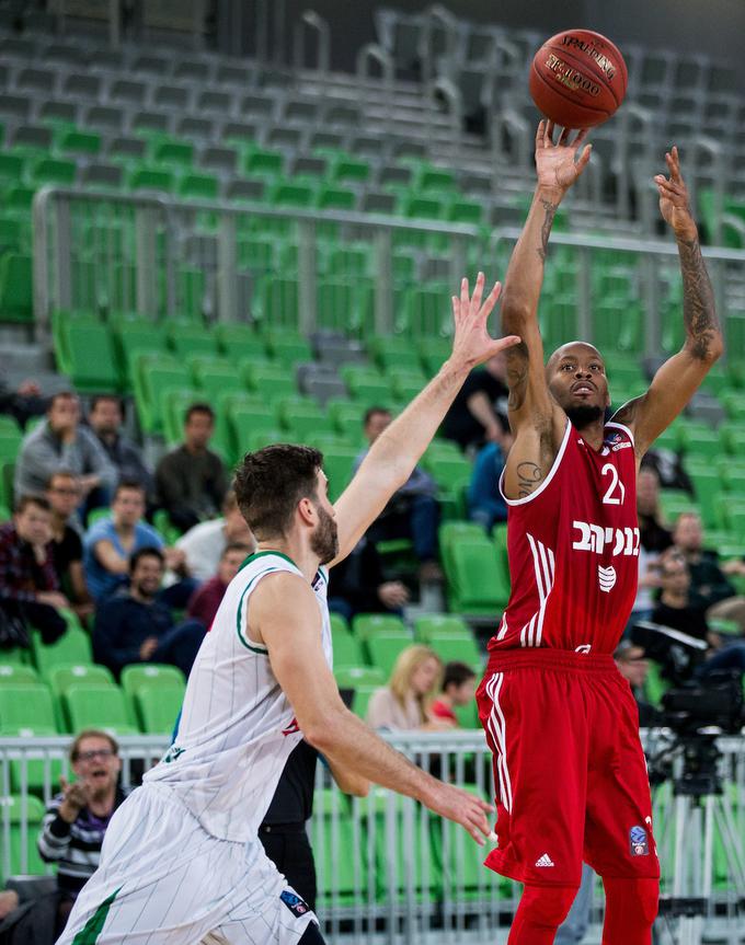
{"type": "Polygon", "coordinates": [[[554,137],[541,122],[538,185],[502,307],[504,332],[523,341],[506,352],[513,589],[477,694],[498,791],[486,865],[525,884],[508,945],[553,942],[583,861],[605,886],[604,945],[649,945],[660,864],[638,713],[611,654],[637,590],[640,461],[722,354],[722,336],[673,148],[669,176],[655,183],[680,257],[683,348],[608,423],[606,366],[592,345],[570,342],[543,365],[537,311],[551,223],[589,160],[584,131],[554,137]]]}

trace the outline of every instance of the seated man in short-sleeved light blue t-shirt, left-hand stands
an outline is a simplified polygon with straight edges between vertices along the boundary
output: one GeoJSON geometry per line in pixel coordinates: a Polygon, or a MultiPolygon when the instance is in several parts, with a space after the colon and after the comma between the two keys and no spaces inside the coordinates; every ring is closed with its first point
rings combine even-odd
{"type": "MultiPolygon", "coordinates": [[[[165,549],[160,533],[142,521],[145,488],[138,482],[123,481],[116,486],[111,517],[99,519],[83,539],[83,568],[88,587],[96,603],[111,597],[129,581],[129,562],[142,548],[163,551],[168,566],[184,573],[185,555],[179,549],[165,549]]],[[[193,591],[190,586],[185,599],[193,591]]],[[[175,599],[172,602],[177,606],[175,599]]]]}

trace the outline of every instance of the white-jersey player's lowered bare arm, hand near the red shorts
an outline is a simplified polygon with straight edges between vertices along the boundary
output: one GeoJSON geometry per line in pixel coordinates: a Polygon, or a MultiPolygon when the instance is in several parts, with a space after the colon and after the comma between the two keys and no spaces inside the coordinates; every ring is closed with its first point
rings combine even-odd
{"type": "Polygon", "coordinates": [[[251,595],[248,611],[244,632],[266,645],[302,734],[332,768],[414,797],[483,843],[490,833],[488,804],[412,764],[344,705],[321,648],[318,602],[302,578],[267,575],[251,595]]]}

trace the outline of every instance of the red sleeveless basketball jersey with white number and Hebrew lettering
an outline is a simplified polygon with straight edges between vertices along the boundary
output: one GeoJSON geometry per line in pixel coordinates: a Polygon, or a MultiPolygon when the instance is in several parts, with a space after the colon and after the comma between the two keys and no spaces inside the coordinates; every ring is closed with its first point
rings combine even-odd
{"type": "Polygon", "coordinates": [[[637,596],[631,430],[606,424],[595,451],[568,422],[545,482],[526,498],[506,502],[512,593],[489,649],[612,653],[637,596]]]}

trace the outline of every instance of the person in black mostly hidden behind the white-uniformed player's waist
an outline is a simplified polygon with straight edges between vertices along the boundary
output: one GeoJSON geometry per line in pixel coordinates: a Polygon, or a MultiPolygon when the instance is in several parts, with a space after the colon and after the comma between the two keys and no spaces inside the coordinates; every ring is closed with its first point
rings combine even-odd
{"type": "MultiPolygon", "coordinates": [[[[259,839],[277,869],[295,891],[316,911],[316,863],[306,829],[313,813],[313,785],[318,752],[301,741],[287,759],[259,839]]],[[[334,764],[331,773],[346,794],[365,797],[369,782],[352,772],[342,773],[334,764]]]]}

